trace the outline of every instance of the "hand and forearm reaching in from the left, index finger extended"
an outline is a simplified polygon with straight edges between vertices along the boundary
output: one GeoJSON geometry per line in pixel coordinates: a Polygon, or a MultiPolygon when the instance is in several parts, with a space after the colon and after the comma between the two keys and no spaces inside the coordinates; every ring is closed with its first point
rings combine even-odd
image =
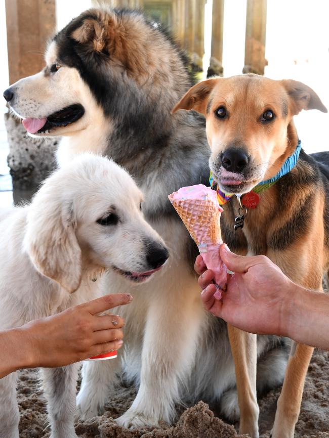
{"type": "Polygon", "coordinates": [[[124,320],[100,315],[128,304],[130,294],[110,294],[57,315],[0,332],[0,378],[21,368],[62,367],[122,346],[124,320]]]}

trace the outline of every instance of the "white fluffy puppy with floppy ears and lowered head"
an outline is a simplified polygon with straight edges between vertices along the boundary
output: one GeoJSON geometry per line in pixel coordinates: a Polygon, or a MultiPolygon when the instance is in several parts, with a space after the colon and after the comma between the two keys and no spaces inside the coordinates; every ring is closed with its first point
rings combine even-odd
{"type": "MultiPolygon", "coordinates": [[[[146,281],[168,258],[141,212],[142,193],[107,158],[83,154],[54,172],[30,205],[0,212],[0,330],[101,294],[114,269],[146,281]]],[[[75,438],[77,366],[45,369],[52,438],[75,438]]],[[[0,438],[19,438],[16,373],[0,380],[0,438]]]]}

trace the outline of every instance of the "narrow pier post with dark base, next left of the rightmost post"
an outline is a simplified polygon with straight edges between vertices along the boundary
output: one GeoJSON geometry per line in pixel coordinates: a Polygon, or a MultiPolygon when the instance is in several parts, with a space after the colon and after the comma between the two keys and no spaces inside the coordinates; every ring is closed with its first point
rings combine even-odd
{"type": "Polygon", "coordinates": [[[207,76],[223,76],[224,0],[213,0],[211,58],[207,76]]]}

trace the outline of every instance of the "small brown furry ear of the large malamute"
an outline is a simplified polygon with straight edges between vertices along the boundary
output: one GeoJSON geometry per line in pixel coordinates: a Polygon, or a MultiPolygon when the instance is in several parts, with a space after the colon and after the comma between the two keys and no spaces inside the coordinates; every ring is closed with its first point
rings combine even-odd
{"type": "Polygon", "coordinates": [[[97,18],[85,18],[81,26],[73,30],[71,37],[80,44],[92,43],[95,52],[102,52],[107,45],[106,28],[97,18]]]}

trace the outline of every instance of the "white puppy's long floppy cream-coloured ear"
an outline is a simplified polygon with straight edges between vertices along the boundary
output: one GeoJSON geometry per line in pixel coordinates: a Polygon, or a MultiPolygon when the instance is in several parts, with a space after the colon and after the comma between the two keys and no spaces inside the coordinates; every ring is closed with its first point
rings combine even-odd
{"type": "Polygon", "coordinates": [[[48,209],[42,202],[32,202],[24,247],[41,274],[55,280],[69,293],[79,287],[81,249],[70,211],[61,213],[59,208],[48,209]]]}

